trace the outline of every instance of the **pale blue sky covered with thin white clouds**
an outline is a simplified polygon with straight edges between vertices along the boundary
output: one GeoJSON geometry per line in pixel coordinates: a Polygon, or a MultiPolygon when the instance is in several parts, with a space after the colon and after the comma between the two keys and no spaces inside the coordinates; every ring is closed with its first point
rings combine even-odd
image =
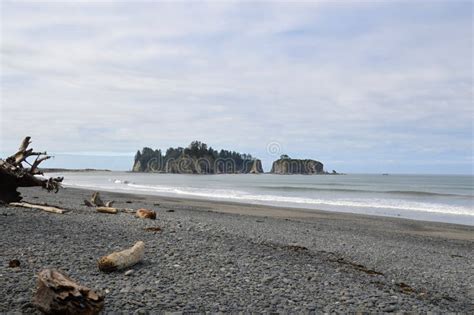
{"type": "Polygon", "coordinates": [[[1,1],[0,156],[144,147],[473,174],[471,1],[1,1]]]}

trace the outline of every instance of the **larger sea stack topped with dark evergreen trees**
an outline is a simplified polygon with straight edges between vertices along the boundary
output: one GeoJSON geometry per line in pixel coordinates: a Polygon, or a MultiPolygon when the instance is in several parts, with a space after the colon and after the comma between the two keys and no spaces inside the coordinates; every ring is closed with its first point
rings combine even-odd
{"type": "Polygon", "coordinates": [[[163,155],[161,150],[143,148],[135,155],[133,172],[155,172],[174,174],[260,174],[260,160],[250,154],[235,151],[214,150],[200,141],[187,148],[169,148],[163,155]]]}

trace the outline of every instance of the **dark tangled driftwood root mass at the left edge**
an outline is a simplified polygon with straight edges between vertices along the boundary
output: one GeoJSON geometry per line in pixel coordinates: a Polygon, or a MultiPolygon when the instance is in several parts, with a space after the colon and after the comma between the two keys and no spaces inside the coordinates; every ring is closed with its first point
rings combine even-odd
{"type": "Polygon", "coordinates": [[[21,195],[17,191],[19,187],[42,187],[47,191],[58,192],[61,187],[62,177],[44,178],[43,173],[38,169],[41,162],[51,158],[46,152],[35,152],[28,149],[31,137],[26,137],[18,151],[5,160],[0,159],[0,201],[18,202],[21,195]],[[30,163],[29,157],[35,156],[35,160],[30,163]],[[24,166],[27,165],[27,167],[24,166]]]}

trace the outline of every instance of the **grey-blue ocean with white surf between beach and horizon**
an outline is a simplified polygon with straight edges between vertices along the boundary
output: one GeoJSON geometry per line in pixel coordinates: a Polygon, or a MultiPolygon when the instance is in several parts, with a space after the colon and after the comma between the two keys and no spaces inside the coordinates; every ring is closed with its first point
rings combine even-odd
{"type": "Polygon", "coordinates": [[[65,172],[66,187],[474,225],[474,176],[65,172]]]}

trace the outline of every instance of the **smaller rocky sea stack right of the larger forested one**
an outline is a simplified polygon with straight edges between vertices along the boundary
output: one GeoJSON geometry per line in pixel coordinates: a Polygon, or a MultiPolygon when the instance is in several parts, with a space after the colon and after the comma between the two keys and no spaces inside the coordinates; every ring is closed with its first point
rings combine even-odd
{"type": "Polygon", "coordinates": [[[315,160],[281,158],[273,162],[271,173],[281,175],[324,174],[324,165],[323,163],[315,160]]]}

